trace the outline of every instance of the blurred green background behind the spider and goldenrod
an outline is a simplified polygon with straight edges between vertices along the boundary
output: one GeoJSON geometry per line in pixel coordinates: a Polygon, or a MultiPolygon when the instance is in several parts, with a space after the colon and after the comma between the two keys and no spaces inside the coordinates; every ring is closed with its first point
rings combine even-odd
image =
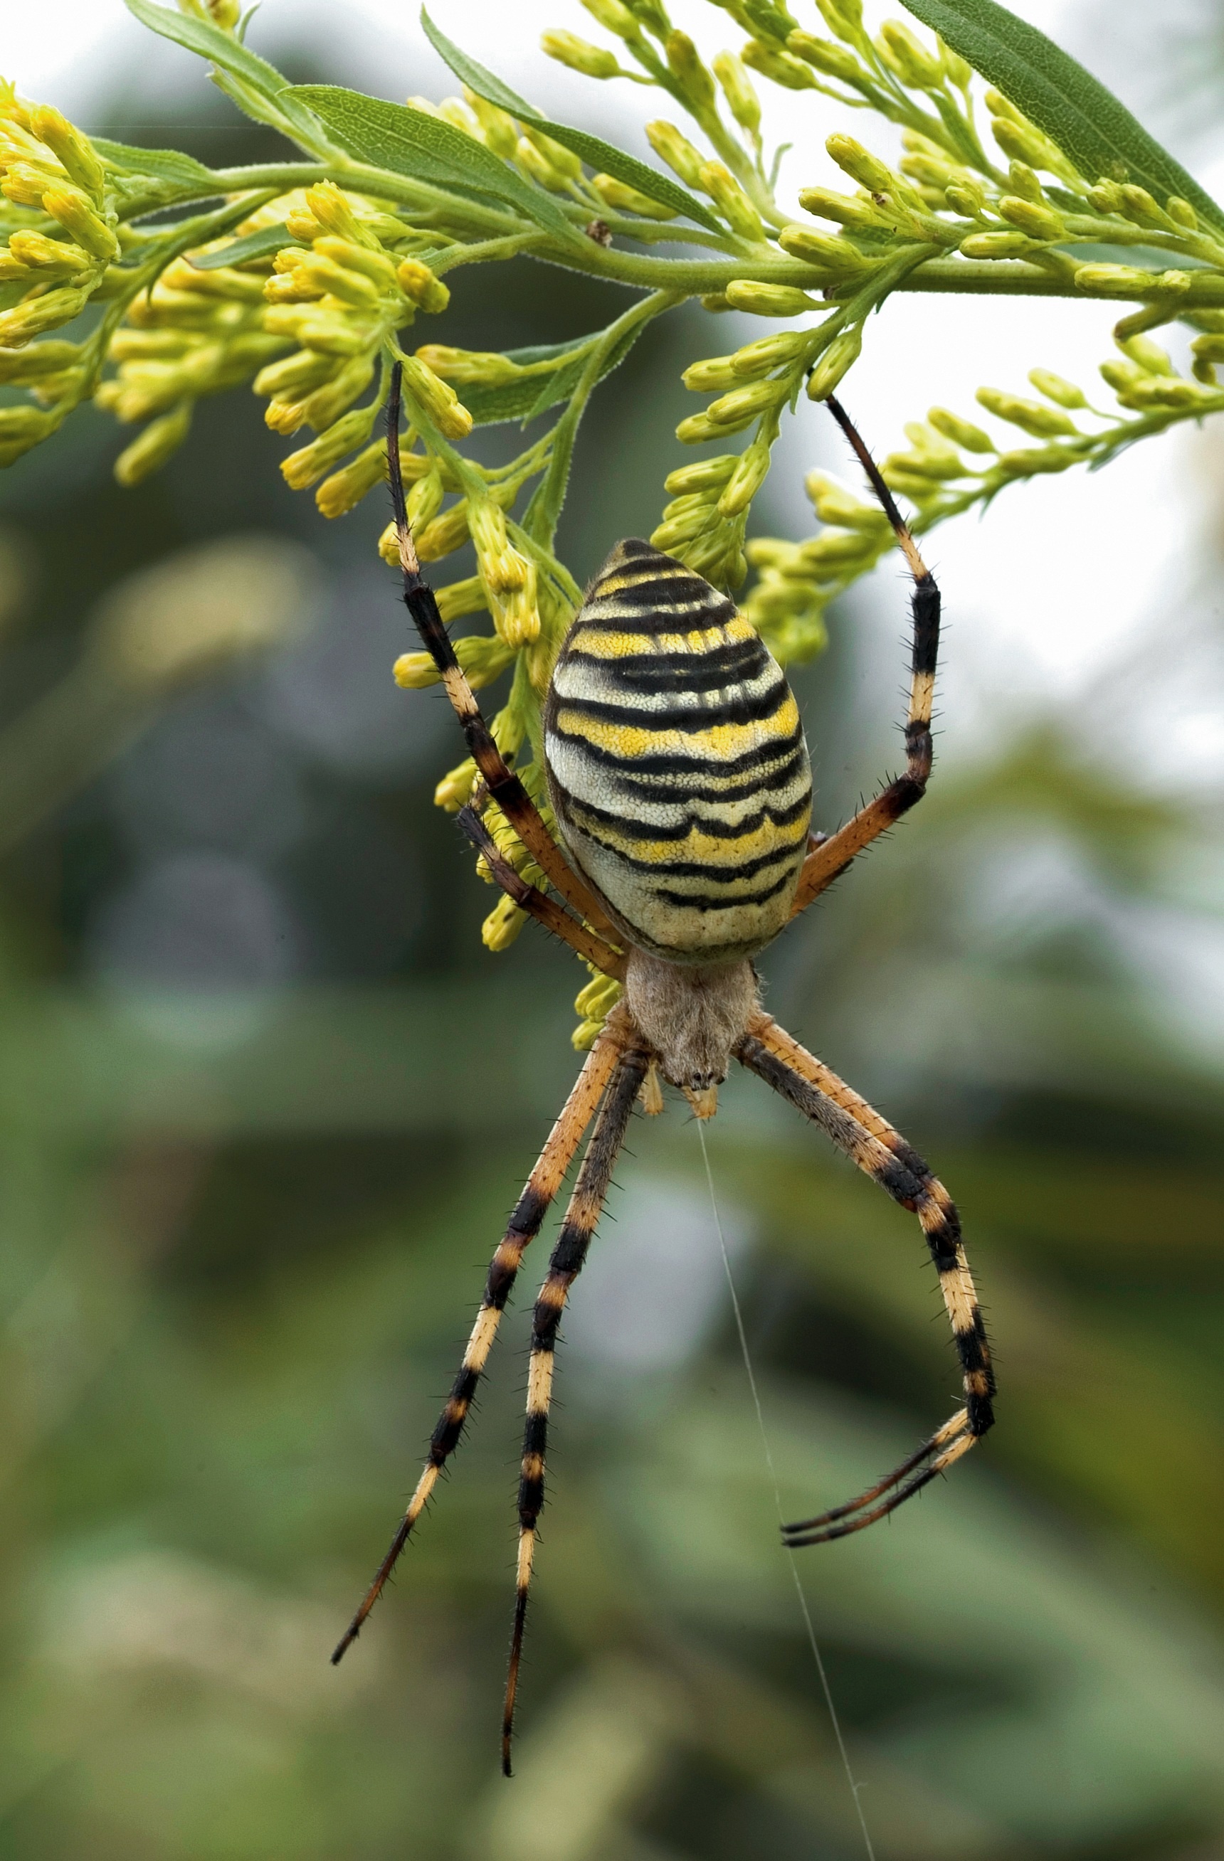
{"type": "MultiPolygon", "coordinates": [[[[265,151],[175,80],[186,147],[265,151]]],[[[95,119],[164,140],[151,82],[95,119]]],[[[559,341],[622,301],[496,287],[460,274],[428,337],[559,341]]],[[[727,329],[658,328],[596,402],[576,573],[654,525],[680,367],[727,329]]],[[[328,1666],[576,1070],[581,973],[533,930],[479,944],[492,895],[430,806],[445,703],[389,677],[376,501],[326,525],[285,491],[248,395],[134,493],[119,443],[86,411],[0,484],[0,1854],[861,1854],[678,1102],[635,1124],[566,1325],[516,1781],[525,1292],[328,1666]]],[[[812,421],[794,460],[838,463],[812,421]]],[[[1224,1855],[1224,454],[1185,460],[1205,521],[1168,609],[971,746],[950,705],[930,798],[766,962],[771,1011],[956,1193],[999,1355],[956,1478],[801,1556],[881,1861],[1224,1855]]],[[[760,532],[803,521],[784,499],[760,532]]],[[[898,756],[892,566],[831,631],[796,676],[823,824],[898,756]]],[[[796,1515],[943,1420],[946,1325],[913,1219],[756,1081],[710,1141],[796,1515]]]]}

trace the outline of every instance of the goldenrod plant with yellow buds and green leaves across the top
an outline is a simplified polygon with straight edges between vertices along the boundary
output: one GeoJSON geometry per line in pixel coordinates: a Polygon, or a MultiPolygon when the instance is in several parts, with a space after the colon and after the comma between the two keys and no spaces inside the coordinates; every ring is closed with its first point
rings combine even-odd
{"type": "MultiPolygon", "coordinates": [[[[291,86],[246,47],[235,0],[179,0],[179,11],[127,0],[300,160],[211,169],[89,138],[52,106],[0,91],[0,462],[95,400],[138,428],[116,462],[130,486],[183,445],[201,396],[250,385],[274,434],[313,435],[281,473],[339,517],[386,478],[380,415],[402,361],[417,553],[434,564],[475,545],[477,573],[440,586],[440,610],[447,623],[488,616],[456,642],[458,659],[475,689],[509,677],[494,735],[542,804],[540,703],[579,603],[555,553],[574,439],[591,395],[656,318],[699,300],[715,329],[728,309],[764,320],[758,339],[686,368],[706,398],[678,437],[699,450],[663,480],[652,542],[715,586],[745,588],[743,612],[782,663],[822,649],[827,605],[894,538],[876,504],[823,473],[807,480],[820,521],[809,540],[749,540],[753,501],[782,419],[799,396],[838,387],[891,294],[1125,305],[1101,365],[1107,404],[1034,367],[1034,395],[978,391],[993,428],[946,408],[905,424],[907,449],[883,475],[913,504],[917,534],[1008,484],[1103,465],[1224,408],[1224,210],[1045,35],[993,0],[907,0],[926,35],[902,20],[872,35],[859,0],[816,0],[820,19],[805,20],[784,0],[712,4],[738,45],[710,63],[663,0],[583,0],[600,43],[544,33],[544,52],[572,71],[661,93],[671,114],[646,125],[648,160],[550,121],[425,11],[462,89],[442,102],[291,86]],[[771,87],[814,91],[822,121],[835,100],[859,123],[866,112],[896,125],[904,154],[892,166],[874,153],[896,138],[870,127],[863,140],[831,134],[846,186],[801,186],[794,218],[779,205],[784,151],[758,86],[766,102],[771,87]],[[451,272],[510,257],[624,285],[626,309],[553,346],[414,342],[445,311],[451,272]],[[1153,339],[1174,322],[1194,331],[1189,376],[1153,339]],[[551,422],[509,463],[475,456],[473,428],[542,417],[551,422]]],[[[796,181],[803,162],[803,147],[788,156],[796,181]]],[[[378,547],[397,560],[389,527],[378,547]]],[[[395,677],[425,687],[438,672],[406,653],[395,677]]],[[[473,785],[464,761],[438,783],[438,804],[462,808],[473,785]]],[[[538,877],[492,808],[486,824],[538,877]]],[[[484,942],[505,947],[524,921],[503,899],[484,942]]],[[[583,990],[581,1044],[615,994],[605,981],[583,990]]]]}

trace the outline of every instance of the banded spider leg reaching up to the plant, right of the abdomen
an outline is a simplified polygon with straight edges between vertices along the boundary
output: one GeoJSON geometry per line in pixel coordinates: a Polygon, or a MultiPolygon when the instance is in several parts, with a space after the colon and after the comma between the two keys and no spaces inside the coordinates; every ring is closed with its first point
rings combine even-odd
{"type": "Polygon", "coordinates": [[[892,493],[879,476],[876,462],[851,424],[850,415],[833,395],[829,395],[827,406],[870,478],[872,489],[896,530],[896,540],[913,575],[913,661],[909,674],[909,715],[905,718],[905,774],[894,776],[874,802],[861,808],[846,826],[838,828],[836,834],[831,834],[829,839],[809,852],[799,873],[796,901],[790,912],[792,917],[807,910],[812,899],[820,897],[825,886],[831,886],[864,847],[870,847],[915,802],[922,800],[932,774],[932,705],[935,700],[935,661],[939,657],[939,588],[935,586],[935,577],[922,562],[909,527],[896,508],[892,493]]]}

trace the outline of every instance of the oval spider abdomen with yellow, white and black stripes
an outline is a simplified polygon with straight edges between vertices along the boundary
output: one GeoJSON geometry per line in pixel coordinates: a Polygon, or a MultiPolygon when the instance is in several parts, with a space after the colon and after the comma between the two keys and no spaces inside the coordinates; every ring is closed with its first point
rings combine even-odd
{"type": "Polygon", "coordinates": [[[630,944],[723,964],[790,917],[812,774],[782,668],[732,601],[617,543],[561,648],[544,715],[566,852],[630,944]]]}

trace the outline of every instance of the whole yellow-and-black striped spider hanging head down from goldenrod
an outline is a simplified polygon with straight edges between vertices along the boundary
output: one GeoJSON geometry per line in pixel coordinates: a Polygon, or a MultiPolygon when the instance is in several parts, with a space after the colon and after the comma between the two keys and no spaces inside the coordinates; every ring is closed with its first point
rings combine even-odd
{"type": "Polygon", "coordinates": [[[516,904],[624,984],[497,1243],[417,1487],[332,1654],[339,1662],[360,1634],[458,1446],[524,1251],[594,1122],[531,1327],[516,1604],[501,1725],[507,1777],[544,1504],[557,1327],[587,1258],[633,1105],[641,1100],[646,1113],[663,1109],[660,1076],[684,1092],[699,1118],[712,1118],[719,1083],[738,1059],[918,1217],[939,1271],[959,1353],[963,1407],[885,1479],[844,1506],[784,1526],[784,1543],[823,1545],[861,1532],[959,1461],[993,1422],[986,1327],[948,1191],[866,1100],[764,1012],[751,960],[922,798],[932,770],[939,590],[846,411],[833,396],[827,406],[913,575],[905,772],[835,834],[809,834],[810,767],[781,666],[732,601],[682,562],[632,538],[617,543],[587,588],[550,679],[544,761],[563,850],[501,757],[421,577],[399,462],[399,365],[391,376],[388,478],[404,605],[442,674],[483,797],[503,810],[555,897],[501,858],[481,821],[481,800],[460,811],[460,824],[516,904]]]}

